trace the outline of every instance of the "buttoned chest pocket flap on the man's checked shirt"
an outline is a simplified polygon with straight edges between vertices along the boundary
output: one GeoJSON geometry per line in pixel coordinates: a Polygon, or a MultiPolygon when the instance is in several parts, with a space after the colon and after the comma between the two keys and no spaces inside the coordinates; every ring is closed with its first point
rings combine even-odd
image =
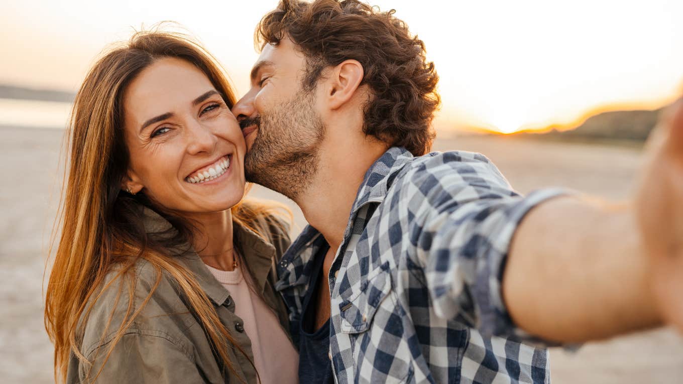
{"type": "Polygon", "coordinates": [[[391,273],[389,262],[385,262],[367,280],[361,284],[358,291],[339,304],[342,314],[342,332],[362,333],[370,329],[382,301],[391,292],[391,273]]]}

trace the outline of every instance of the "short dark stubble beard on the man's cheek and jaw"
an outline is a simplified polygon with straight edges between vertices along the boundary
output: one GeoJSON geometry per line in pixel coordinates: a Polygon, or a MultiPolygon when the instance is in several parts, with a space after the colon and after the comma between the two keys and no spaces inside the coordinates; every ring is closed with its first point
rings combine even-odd
{"type": "Polygon", "coordinates": [[[296,201],[313,182],[325,126],[313,110],[313,92],[297,92],[277,109],[261,113],[245,156],[247,181],[296,201]]]}

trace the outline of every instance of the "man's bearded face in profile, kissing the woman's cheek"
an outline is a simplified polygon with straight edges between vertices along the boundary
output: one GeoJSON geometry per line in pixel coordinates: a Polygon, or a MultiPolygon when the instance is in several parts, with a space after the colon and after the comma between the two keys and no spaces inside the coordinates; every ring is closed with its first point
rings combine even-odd
{"type": "Polygon", "coordinates": [[[233,107],[247,141],[247,180],[295,200],[318,169],[324,124],[316,90],[305,91],[303,53],[289,40],[266,44],[251,71],[251,89],[233,107]]]}

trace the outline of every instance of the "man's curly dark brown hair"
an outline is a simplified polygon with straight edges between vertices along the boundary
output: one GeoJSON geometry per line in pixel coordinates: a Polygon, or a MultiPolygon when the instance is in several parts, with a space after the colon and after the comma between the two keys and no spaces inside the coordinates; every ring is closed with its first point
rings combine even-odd
{"type": "Polygon", "coordinates": [[[255,43],[277,46],[290,38],[306,55],[304,90],[313,90],[324,68],[354,59],[364,70],[372,98],[365,105],[363,133],[415,156],[430,151],[431,122],[441,102],[438,75],[425,46],[411,36],[395,10],[381,12],[357,0],[281,0],[264,16],[255,43]]]}

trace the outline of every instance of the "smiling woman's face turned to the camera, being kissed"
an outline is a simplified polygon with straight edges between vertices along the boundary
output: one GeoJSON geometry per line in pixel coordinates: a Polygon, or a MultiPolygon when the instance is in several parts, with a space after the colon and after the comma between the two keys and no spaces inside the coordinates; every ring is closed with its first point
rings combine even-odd
{"type": "Polygon", "coordinates": [[[201,70],[159,59],[128,85],[123,104],[130,168],[122,189],[188,214],[226,210],[242,199],[244,137],[201,70]]]}

